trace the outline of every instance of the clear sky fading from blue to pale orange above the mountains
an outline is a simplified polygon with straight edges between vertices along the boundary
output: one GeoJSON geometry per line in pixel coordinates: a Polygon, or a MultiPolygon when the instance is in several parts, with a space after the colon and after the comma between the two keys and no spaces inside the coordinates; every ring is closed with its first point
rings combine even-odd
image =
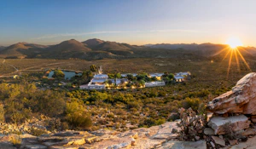
{"type": "Polygon", "coordinates": [[[255,0],[0,0],[0,45],[64,40],[256,47],[255,0]]]}

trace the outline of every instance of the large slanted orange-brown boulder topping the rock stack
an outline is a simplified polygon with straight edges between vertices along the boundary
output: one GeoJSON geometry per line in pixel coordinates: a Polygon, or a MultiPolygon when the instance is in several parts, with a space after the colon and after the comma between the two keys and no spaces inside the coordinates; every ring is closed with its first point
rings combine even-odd
{"type": "Polygon", "coordinates": [[[227,93],[219,95],[208,102],[207,109],[211,112],[243,113],[256,115],[256,73],[251,72],[242,77],[236,86],[227,93]]]}

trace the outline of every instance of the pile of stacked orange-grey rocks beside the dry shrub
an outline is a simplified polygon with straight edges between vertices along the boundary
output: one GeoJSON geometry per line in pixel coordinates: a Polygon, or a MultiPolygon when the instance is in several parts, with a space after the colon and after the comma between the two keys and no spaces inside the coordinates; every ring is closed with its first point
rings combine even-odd
{"type": "Polygon", "coordinates": [[[247,140],[247,136],[255,135],[256,129],[249,128],[251,122],[256,123],[255,107],[256,73],[251,72],[242,77],[232,90],[219,95],[207,104],[208,111],[213,112],[213,116],[208,121],[208,126],[212,129],[211,138],[215,142],[212,147],[234,145],[238,143],[237,140],[247,140]],[[240,131],[246,138],[227,140],[219,137],[227,134],[227,127],[232,132],[240,131]]]}

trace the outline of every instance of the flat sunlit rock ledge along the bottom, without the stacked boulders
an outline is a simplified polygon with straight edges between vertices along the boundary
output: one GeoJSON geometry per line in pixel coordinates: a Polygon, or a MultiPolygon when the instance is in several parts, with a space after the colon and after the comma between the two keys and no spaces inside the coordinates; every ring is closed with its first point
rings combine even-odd
{"type": "Polygon", "coordinates": [[[245,129],[246,140],[227,140],[224,135],[214,135],[211,128],[204,129],[203,140],[181,141],[177,134],[177,122],[164,123],[151,128],[126,132],[100,129],[87,131],[63,131],[49,135],[1,135],[0,149],[253,149],[256,148],[256,129],[245,129]],[[247,139],[248,138],[248,139],[247,139]],[[15,142],[14,140],[20,140],[15,142]],[[245,141],[245,142],[242,142],[245,141]],[[16,144],[14,144],[16,143],[16,144]]]}

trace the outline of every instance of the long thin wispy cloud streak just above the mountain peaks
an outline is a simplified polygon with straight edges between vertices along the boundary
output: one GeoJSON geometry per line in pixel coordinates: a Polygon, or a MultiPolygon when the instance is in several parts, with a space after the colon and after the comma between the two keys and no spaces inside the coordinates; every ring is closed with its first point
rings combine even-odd
{"type": "Polygon", "coordinates": [[[94,34],[108,34],[108,33],[131,33],[131,32],[198,32],[195,30],[150,30],[150,31],[102,31],[102,32],[80,32],[80,33],[62,33],[62,34],[51,34],[44,35],[42,37],[34,37],[32,40],[41,40],[47,38],[55,37],[79,37],[84,35],[94,35],[94,34]]]}

